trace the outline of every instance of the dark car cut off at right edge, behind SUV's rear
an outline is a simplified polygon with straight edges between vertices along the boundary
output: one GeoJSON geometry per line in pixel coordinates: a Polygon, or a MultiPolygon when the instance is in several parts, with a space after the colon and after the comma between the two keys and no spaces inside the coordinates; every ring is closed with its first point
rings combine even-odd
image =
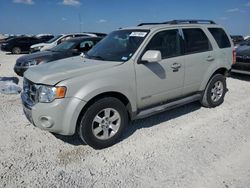
{"type": "Polygon", "coordinates": [[[236,49],[236,63],[231,71],[250,75],[250,40],[243,42],[236,49]]]}

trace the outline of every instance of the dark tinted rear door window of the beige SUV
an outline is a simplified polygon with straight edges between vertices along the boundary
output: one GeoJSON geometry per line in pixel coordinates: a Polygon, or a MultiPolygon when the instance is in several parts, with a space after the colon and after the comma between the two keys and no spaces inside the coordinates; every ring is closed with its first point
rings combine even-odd
{"type": "Polygon", "coordinates": [[[185,37],[185,54],[212,50],[206,34],[201,29],[183,29],[183,34],[185,37]]]}

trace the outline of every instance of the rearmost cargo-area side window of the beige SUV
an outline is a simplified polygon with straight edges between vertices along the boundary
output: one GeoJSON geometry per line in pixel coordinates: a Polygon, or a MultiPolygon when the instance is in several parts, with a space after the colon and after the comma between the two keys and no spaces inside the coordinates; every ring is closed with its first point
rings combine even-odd
{"type": "Polygon", "coordinates": [[[219,48],[231,47],[230,40],[223,29],[221,29],[221,28],[208,28],[208,30],[213,35],[219,48]]]}

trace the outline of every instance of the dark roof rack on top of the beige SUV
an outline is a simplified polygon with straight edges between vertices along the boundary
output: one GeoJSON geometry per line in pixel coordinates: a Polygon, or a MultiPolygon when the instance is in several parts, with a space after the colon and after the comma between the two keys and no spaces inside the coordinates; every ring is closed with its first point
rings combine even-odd
{"type": "Polygon", "coordinates": [[[172,20],[167,22],[159,22],[159,23],[140,23],[138,26],[143,25],[160,25],[160,24],[216,24],[212,20],[172,20]]]}

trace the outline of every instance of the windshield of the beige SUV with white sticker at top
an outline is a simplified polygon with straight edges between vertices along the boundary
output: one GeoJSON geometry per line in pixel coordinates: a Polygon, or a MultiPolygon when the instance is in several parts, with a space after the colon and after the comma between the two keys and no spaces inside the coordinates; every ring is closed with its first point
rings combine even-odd
{"type": "Polygon", "coordinates": [[[118,30],[110,33],[87,54],[86,58],[128,61],[141,45],[148,30],[118,30]]]}

